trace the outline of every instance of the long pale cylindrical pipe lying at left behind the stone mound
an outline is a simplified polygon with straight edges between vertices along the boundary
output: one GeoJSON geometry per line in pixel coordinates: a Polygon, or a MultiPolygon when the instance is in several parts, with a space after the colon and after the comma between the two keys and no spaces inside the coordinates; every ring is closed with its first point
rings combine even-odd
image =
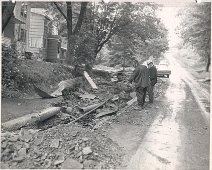
{"type": "Polygon", "coordinates": [[[19,117],[17,119],[7,121],[5,123],[2,123],[1,126],[2,126],[2,129],[4,130],[17,130],[27,124],[33,124],[36,122],[44,121],[45,119],[48,119],[59,112],[60,112],[60,107],[50,107],[43,110],[40,113],[32,113],[29,115],[19,117]]]}

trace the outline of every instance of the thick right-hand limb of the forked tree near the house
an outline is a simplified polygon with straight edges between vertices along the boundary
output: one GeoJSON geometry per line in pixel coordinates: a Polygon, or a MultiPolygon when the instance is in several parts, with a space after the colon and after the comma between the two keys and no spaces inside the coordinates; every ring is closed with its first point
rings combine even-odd
{"type": "Polygon", "coordinates": [[[79,14],[79,18],[77,20],[77,24],[74,28],[73,34],[77,34],[80,31],[80,28],[82,26],[82,22],[83,22],[83,18],[85,16],[86,13],[86,7],[87,7],[88,2],[82,2],[81,3],[81,9],[80,9],[80,14],[79,14]]]}

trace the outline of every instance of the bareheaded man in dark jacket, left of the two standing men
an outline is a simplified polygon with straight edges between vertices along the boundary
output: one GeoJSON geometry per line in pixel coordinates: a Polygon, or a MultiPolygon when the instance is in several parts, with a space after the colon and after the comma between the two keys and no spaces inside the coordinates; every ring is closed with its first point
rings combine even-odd
{"type": "Polygon", "coordinates": [[[135,91],[138,105],[144,108],[147,87],[149,86],[149,70],[145,65],[140,65],[138,61],[134,63],[135,70],[129,78],[129,82],[135,83],[135,91]]]}

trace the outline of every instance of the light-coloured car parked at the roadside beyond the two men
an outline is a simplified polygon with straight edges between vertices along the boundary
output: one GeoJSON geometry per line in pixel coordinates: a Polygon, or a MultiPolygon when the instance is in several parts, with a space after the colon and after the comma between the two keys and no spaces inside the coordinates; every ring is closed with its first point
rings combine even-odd
{"type": "Polygon", "coordinates": [[[161,61],[159,65],[156,65],[158,71],[158,77],[167,77],[171,74],[171,70],[169,68],[169,64],[167,61],[161,61]]]}

